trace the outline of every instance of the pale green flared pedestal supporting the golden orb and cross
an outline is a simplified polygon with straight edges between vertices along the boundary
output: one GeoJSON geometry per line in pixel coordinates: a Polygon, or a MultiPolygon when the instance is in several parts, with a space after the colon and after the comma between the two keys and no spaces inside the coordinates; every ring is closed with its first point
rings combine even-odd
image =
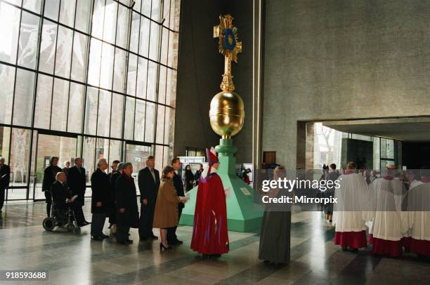
{"type": "MultiPolygon", "coordinates": [[[[233,140],[221,139],[220,145],[215,147],[219,154],[218,175],[223,181],[225,189],[230,188],[227,203],[228,230],[234,232],[254,232],[260,229],[263,207],[254,203],[254,190],[247,183],[237,177],[235,173],[236,158],[233,154],[237,148],[233,146],[233,140]]],[[[193,225],[195,200],[197,187],[190,192],[190,200],[183,208],[181,225],[193,225]]]]}

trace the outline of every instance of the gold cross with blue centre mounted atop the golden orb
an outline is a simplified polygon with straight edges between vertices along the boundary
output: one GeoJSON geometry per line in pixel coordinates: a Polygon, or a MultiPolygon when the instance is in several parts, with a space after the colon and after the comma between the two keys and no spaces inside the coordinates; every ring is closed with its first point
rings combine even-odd
{"type": "Polygon", "coordinates": [[[219,25],[214,27],[214,38],[219,38],[219,53],[224,55],[224,74],[220,87],[222,91],[232,92],[235,84],[231,75],[231,61],[237,63],[237,53],[242,52],[242,42],[237,37],[237,28],[233,26],[231,15],[219,16],[219,25]]]}

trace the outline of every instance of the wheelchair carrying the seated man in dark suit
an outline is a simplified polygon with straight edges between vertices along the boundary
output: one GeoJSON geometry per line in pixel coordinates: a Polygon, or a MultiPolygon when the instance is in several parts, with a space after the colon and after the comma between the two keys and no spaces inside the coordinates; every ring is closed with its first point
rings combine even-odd
{"type": "Polygon", "coordinates": [[[65,227],[67,232],[77,233],[81,228],[77,225],[76,217],[74,216],[74,211],[70,206],[65,206],[65,208],[58,208],[55,201],[52,201],[51,206],[51,217],[44,218],[42,223],[44,229],[51,232],[54,227],[65,227]]]}

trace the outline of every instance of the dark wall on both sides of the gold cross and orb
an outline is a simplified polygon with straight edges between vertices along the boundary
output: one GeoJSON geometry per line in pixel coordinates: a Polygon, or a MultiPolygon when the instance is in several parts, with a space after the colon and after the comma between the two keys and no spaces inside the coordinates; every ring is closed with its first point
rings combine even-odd
{"type": "Polygon", "coordinates": [[[213,27],[219,14],[230,13],[239,30],[243,51],[233,63],[233,81],[245,103],[245,124],[233,137],[238,147],[237,163],[252,162],[252,1],[197,1],[181,4],[178,84],[174,155],[184,155],[185,147],[219,144],[219,135],[209,123],[209,103],[221,90],[224,60],[218,53],[213,27]]]}

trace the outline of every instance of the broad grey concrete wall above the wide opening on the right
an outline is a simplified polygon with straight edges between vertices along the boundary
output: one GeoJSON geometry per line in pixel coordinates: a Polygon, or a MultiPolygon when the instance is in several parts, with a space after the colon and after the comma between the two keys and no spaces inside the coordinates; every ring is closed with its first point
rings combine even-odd
{"type": "Polygon", "coordinates": [[[430,114],[430,1],[266,1],[263,151],[297,121],[430,114]]]}

